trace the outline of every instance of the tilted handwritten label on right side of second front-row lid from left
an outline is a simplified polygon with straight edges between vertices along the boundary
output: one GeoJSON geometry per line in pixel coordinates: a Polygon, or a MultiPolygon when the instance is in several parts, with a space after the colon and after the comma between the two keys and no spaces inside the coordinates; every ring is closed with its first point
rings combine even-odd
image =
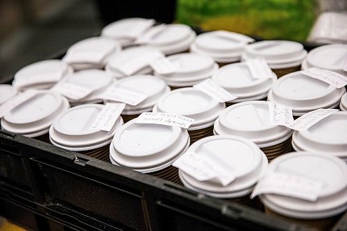
{"type": "Polygon", "coordinates": [[[106,103],[90,128],[109,132],[112,130],[125,106],[125,103],[106,103]]]}

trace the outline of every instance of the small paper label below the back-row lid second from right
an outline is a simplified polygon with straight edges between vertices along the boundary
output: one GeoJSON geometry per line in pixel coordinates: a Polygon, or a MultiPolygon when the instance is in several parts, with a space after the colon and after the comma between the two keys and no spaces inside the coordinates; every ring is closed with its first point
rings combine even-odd
{"type": "Polygon", "coordinates": [[[273,73],[264,58],[248,60],[246,65],[253,78],[273,78],[273,73]]]}

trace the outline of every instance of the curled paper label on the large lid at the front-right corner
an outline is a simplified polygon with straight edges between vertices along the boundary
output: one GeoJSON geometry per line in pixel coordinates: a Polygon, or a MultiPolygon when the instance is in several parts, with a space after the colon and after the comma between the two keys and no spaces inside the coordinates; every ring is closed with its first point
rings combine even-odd
{"type": "Polygon", "coordinates": [[[322,187],[322,182],[303,178],[302,176],[272,173],[269,176],[264,176],[257,183],[251,198],[253,199],[260,194],[278,194],[314,202],[317,200],[322,187]]]}

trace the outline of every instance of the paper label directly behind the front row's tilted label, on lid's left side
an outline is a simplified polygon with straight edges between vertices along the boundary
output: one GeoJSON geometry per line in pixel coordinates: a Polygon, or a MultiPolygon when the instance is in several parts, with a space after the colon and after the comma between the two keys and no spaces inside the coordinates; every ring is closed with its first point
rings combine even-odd
{"type": "Polygon", "coordinates": [[[139,105],[139,103],[143,102],[147,98],[147,96],[145,96],[144,94],[139,94],[137,92],[130,91],[128,89],[110,87],[106,90],[105,93],[101,94],[99,98],[136,106],[139,105]]]}

